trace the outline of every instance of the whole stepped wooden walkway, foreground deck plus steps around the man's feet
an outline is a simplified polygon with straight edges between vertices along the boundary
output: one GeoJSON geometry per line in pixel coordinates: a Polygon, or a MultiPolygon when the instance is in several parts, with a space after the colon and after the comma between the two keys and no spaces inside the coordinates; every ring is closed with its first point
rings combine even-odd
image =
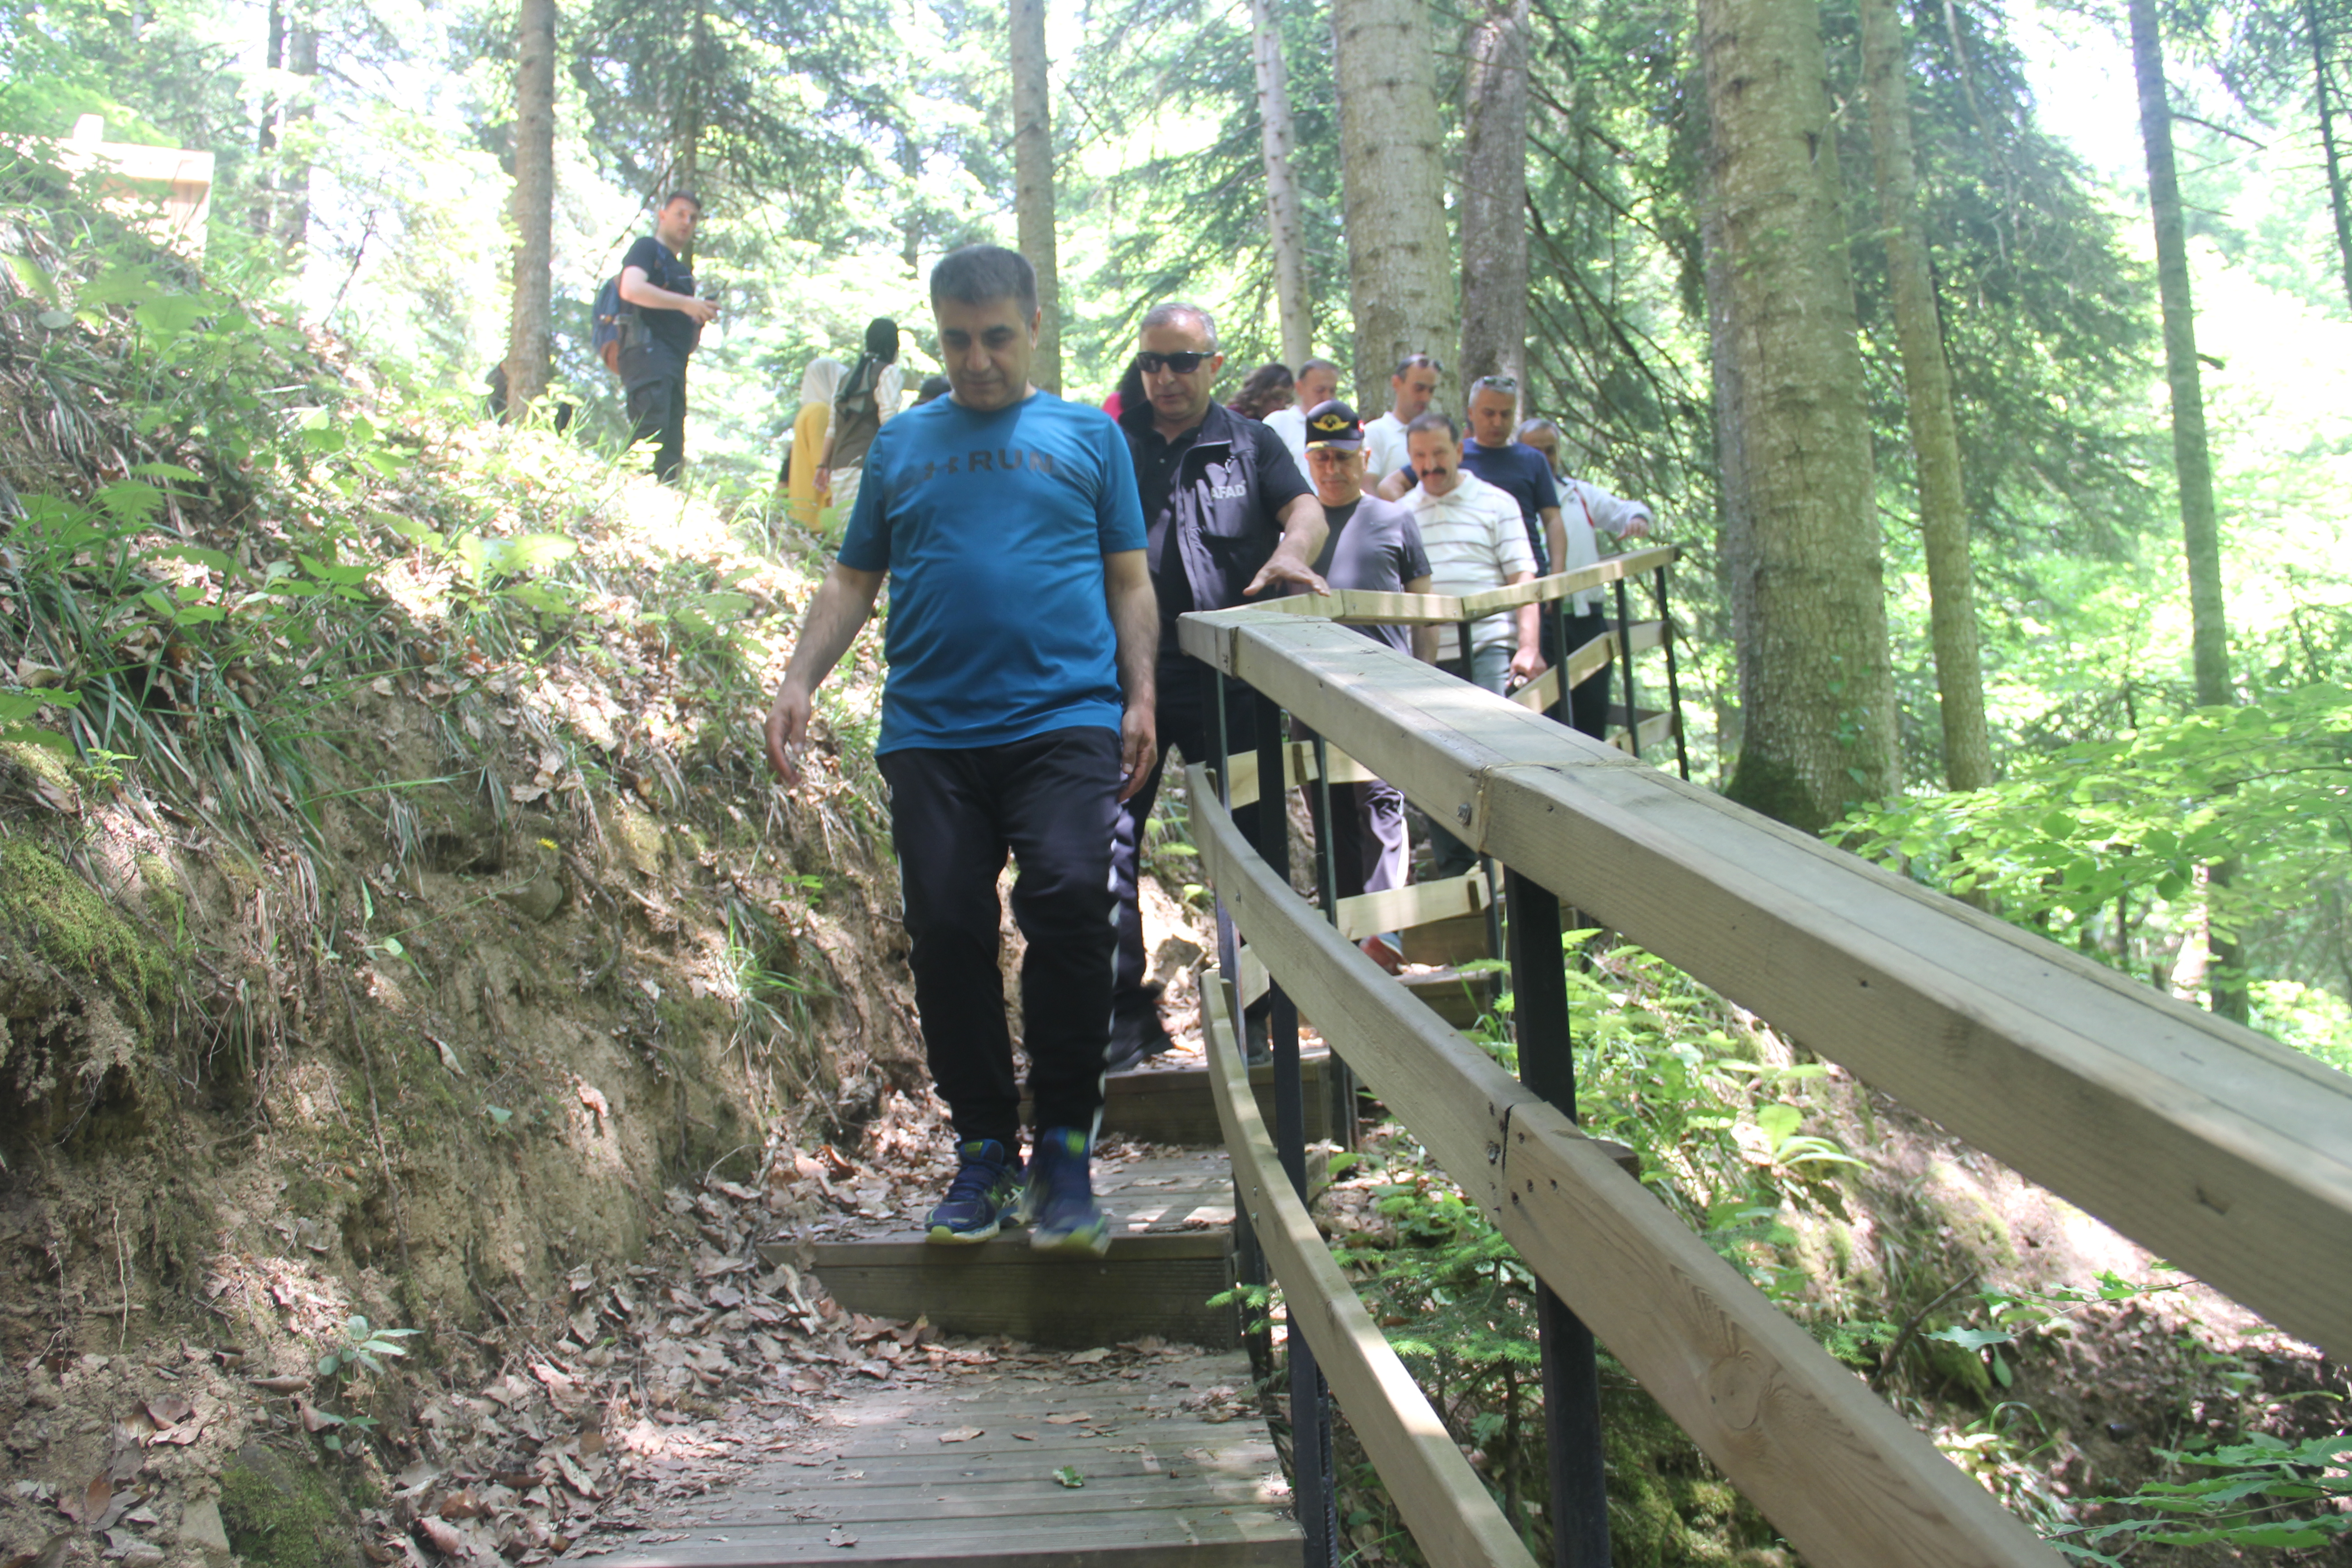
{"type": "Polygon", "coordinates": [[[931,1246],[913,1211],[762,1248],[849,1312],[981,1342],[922,1380],[851,1378],[748,1479],[663,1500],[600,1568],[1296,1563],[1240,1309],[1209,1305],[1232,1286],[1232,1168],[1202,1147],[1221,1133],[1200,1056],[1115,1077],[1105,1131],[1129,1140],[1096,1161],[1105,1258],[1040,1255],[1025,1232],[931,1246]]]}

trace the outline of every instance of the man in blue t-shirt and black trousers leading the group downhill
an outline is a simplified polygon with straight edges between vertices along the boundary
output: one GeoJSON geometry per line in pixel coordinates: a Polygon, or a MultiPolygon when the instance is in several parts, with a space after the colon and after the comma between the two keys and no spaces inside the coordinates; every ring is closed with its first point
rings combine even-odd
{"type": "Polygon", "coordinates": [[[1037,273],[969,244],[931,268],[950,397],[882,425],[840,559],[767,715],[788,785],[816,686],[891,581],[875,745],[913,943],[915,1009],[960,1166],[931,1241],[1033,1225],[1040,1251],[1103,1253],[1089,1157],[1110,1044],[1110,825],[1157,762],[1160,604],[1127,440],[1101,409],[1030,386],[1037,273]],[[1037,1138],[1021,1161],[997,971],[997,872],[1014,919],[1037,1138]]]}

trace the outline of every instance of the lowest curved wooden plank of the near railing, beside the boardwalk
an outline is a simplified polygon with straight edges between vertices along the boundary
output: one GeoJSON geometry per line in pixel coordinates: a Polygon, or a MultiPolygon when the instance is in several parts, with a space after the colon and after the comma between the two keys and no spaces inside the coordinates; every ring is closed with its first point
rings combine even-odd
{"type": "Polygon", "coordinates": [[[1249,1225],[1282,1284],[1294,1333],[1305,1335],[1338,1408],[1381,1472],[1414,1544],[1437,1568],[1479,1563],[1534,1568],[1526,1547],[1486,1495],[1437,1410],[1374,1326],[1355,1286],[1334,1262],[1322,1232],[1275,1159],[1272,1138],[1242,1072],[1242,1051],[1223,987],[1202,987],[1202,1032],[1216,1074],[1216,1110],[1225,1124],[1235,1182],[1249,1225]]]}

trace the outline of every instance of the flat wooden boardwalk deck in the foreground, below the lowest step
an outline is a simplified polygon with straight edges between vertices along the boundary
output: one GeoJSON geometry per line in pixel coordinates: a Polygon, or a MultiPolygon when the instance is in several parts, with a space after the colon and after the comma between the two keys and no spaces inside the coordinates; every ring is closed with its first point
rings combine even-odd
{"type": "Polygon", "coordinates": [[[1007,1356],[870,1385],[727,1493],[661,1505],[602,1568],[1272,1568],[1301,1535],[1249,1361],[1007,1356]],[[1075,1486],[1073,1486],[1075,1481],[1075,1486]]]}

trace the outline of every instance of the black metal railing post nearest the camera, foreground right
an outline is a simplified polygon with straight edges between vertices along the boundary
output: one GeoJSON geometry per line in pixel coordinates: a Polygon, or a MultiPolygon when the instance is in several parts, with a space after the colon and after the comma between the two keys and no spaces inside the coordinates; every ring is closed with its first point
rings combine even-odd
{"type": "MultiPolygon", "coordinates": [[[[1503,870],[1510,898],[1510,990],[1519,1081],[1576,1119],[1569,966],[1559,952],[1559,893],[1503,870]]],[[[1602,1472],[1599,1366],[1592,1331],[1536,1284],[1543,1345],[1543,1429],[1550,1460],[1555,1568],[1609,1568],[1609,1483],[1602,1472]]],[[[1519,1521],[1515,1519],[1512,1526],[1519,1521]]]]}

